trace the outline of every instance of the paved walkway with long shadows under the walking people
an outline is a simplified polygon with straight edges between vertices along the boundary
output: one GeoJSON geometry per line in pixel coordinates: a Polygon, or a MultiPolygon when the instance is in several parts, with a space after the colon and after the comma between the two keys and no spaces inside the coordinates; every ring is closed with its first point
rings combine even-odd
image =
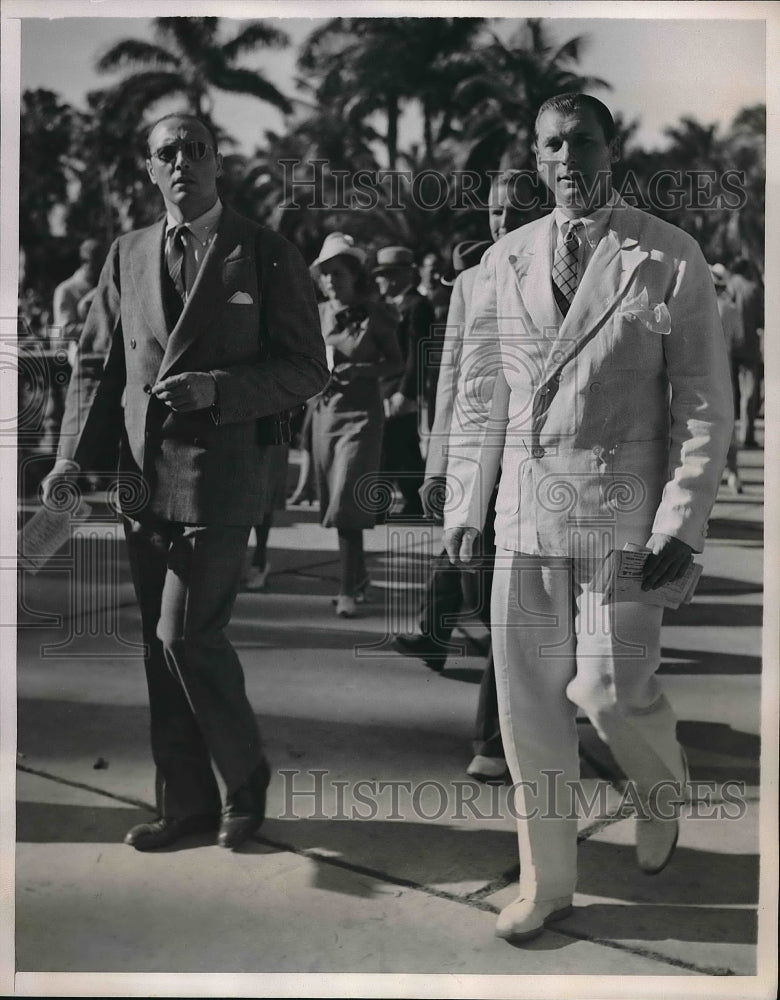
{"type": "MultiPolygon", "coordinates": [[[[508,789],[464,773],[484,661],[466,644],[437,675],[387,648],[414,620],[430,529],[368,534],[375,599],[345,621],[335,533],[313,509],[279,516],[268,592],[242,594],[231,626],[277,772],[268,819],[236,854],[196,838],[153,855],[122,844],[151,810],[138,616],[116,525],[80,529],[62,568],[21,592],[17,990],[41,992],[42,972],[319,974],[301,996],[322,974],[392,973],[382,995],[422,995],[399,978],[416,973],[472,995],[485,987],[462,977],[487,974],[513,977],[493,981],[505,995],[535,975],[662,977],[669,997],[684,979],[741,976],[754,995],[762,458],[741,455],[745,493],[719,499],[697,596],[663,632],[663,684],[711,807],[683,822],[663,873],[641,874],[619,775],[581,720],[583,788],[604,794],[580,820],[574,916],[522,948],[493,936],[518,875],[508,789]]],[[[253,995],[291,989],[264,982],[253,995]]],[[[365,995],[361,982],[342,995],[365,995]]]]}

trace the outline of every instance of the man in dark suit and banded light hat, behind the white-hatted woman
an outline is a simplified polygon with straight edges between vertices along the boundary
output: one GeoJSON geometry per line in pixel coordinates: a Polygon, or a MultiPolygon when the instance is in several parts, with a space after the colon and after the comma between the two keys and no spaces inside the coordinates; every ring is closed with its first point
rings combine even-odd
{"type": "Polygon", "coordinates": [[[423,344],[431,336],[433,306],[417,290],[414,254],[407,247],[378,250],[373,274],[379,294],[398,310],[398,345],[404,360],[400,375],[382,380],[387,418],[382,471],[398,484],[404,500],[401,514],[419,517],[423,513],[419,489],[425,468],[418,429],[419,400],[426,381],[421,355],[423,344]]]}

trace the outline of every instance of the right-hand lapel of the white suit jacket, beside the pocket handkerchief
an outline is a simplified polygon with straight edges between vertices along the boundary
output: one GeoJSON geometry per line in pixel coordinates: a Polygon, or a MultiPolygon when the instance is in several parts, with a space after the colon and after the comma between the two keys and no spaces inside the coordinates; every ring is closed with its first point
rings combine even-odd
{"type": "Polygon", "coordinates": [[[625,293],[634,271],[647,256],[634,235],[623,235],[620,228],[607,231],[585,269],[558,331],[558,339],[548,354],[547,377],[579,354],[598,332],[625,293]]]}

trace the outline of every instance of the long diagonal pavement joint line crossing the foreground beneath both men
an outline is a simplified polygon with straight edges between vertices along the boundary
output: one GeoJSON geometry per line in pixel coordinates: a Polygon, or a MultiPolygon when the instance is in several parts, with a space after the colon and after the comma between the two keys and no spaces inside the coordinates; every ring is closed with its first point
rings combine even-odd
{"type": "MultiPolygon", "coordinates": [[[[71,788],[78,788],[82,791],[92,792],[95,795],[101,795],[104,798],[113,799],[118,802],[124,802],[128,805],[139,806],[140,808],[146,810],[147,812],[154,813],[155,808],[150,803],[145,802],[143,799],[136,799],[129,795],[117,795],[115,792],[109,792],[104,788],[96,788],[94,785],[88,785],[82,781],[74,781],[71,778],[62,778],[56,774],[51,774],[48,771],[43,771],[40,768],[29,767],[27,764],[21,764],[17,762],[16,769],[18,771],[23,771],[25,774],[33,774],[36,777],[44,778],[48,781],[54,781],[60,785],[67,785],[71,788]]],[[[595,824],[594,824],[595,825],[595,824]]],[[[295,854],[298,857],[310,858],[312,860],[321,862],[323,864],[331,865],[334,868],[341,868],[345,871],[353,872],[356,875],[366,875],[369,878],[375,879],[378,882],[386,882],[388,885],[398,885],[402,888],[412,889],[417,892],[422,892],[427,896],[432,896],[435,899],[443,899],[451,903],[460,903],[461,905],[468,906],[474,910],[480,910],[485,913],[497,914],[499,908],[492,903],[483,901],[477,896],[476,893],[469,893],[467,895],[459,896],[456,893],[447,892],[445,889],[436,889],[434,886],[425,885],[421,882],[415,882],[413,879],[403,878],[400,875],[390,875],[387,872],[379,871],[375,868],[369,868],[367,865],[355,864],[352,861],[346,861],[341,858],[334,858],[329,855],[321,854],[316,848],[298,848],[292,844],[286,844],[283,841],[272,840],[270,837],[264,837],[261,834],[257,834],[253,838],[257,843],[265,844],[268,847],[274,847],[289,854],[295,854]]],[[[578,840],[579,840],[578,836],[578,840]]],[[[514,869],[519,872],[519,867],[514,866],[514,869]]],[[[500,881],[503,881],[509,875],[509,871],[505,872],[503,876],[499,879],[494,880],[489,885],[494,885],[500,881]]],[[[513,880],[513,879],[512,879],[513,880]]],[[[506,883],[507,885],[509,882],[506,883]]],[[[483,890],[487,886],[483,887],[483,890]]],[[[499,888],[505,888],[504,885],[500,885],[499,888]]],[[[477,890],[477,893],[483,891],[477,890]]],[[[495,889],[493,891],[498,891],[495,889]]],[[[612,948],[616,951],[624,951],[631,955],[636,955],[640,958],[646,958],[650,961],[660,962],[665,965],[671,965],[674,968],[685,969],[689,972],[696,972],[701,975],[709,976],[733,976],[736,973],[729,968],[721,967],[711,967],[711,966],[700,966],[693,962],[686,962],[683,959],[677,959],[664,955],[661,952],[653,951],[651,948],[642,948],[635,945],[626,945],[619,941],[613,941],[609,938],[599,938],[593,935],[580,933],[577,931],[567,931],[561,927],[556,927],[552,933],[558,934],[561,937],[568,937],[575,941],[587,941],[591,944],[598,944],[605,948],[612,948]]]]}

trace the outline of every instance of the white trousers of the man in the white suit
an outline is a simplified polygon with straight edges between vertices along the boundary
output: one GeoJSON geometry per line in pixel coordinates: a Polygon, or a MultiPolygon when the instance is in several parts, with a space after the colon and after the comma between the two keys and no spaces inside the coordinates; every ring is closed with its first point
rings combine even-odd
{"type": "Polygon", "coordinates": [[[496,558],[493,655],[528,899],[568,896],[576,886],[577,705],[638,795],[684,779],[676,720],[656,677],[662,609],[601,606],[589,576],[581,560],[505,549],[496,558]]]}

